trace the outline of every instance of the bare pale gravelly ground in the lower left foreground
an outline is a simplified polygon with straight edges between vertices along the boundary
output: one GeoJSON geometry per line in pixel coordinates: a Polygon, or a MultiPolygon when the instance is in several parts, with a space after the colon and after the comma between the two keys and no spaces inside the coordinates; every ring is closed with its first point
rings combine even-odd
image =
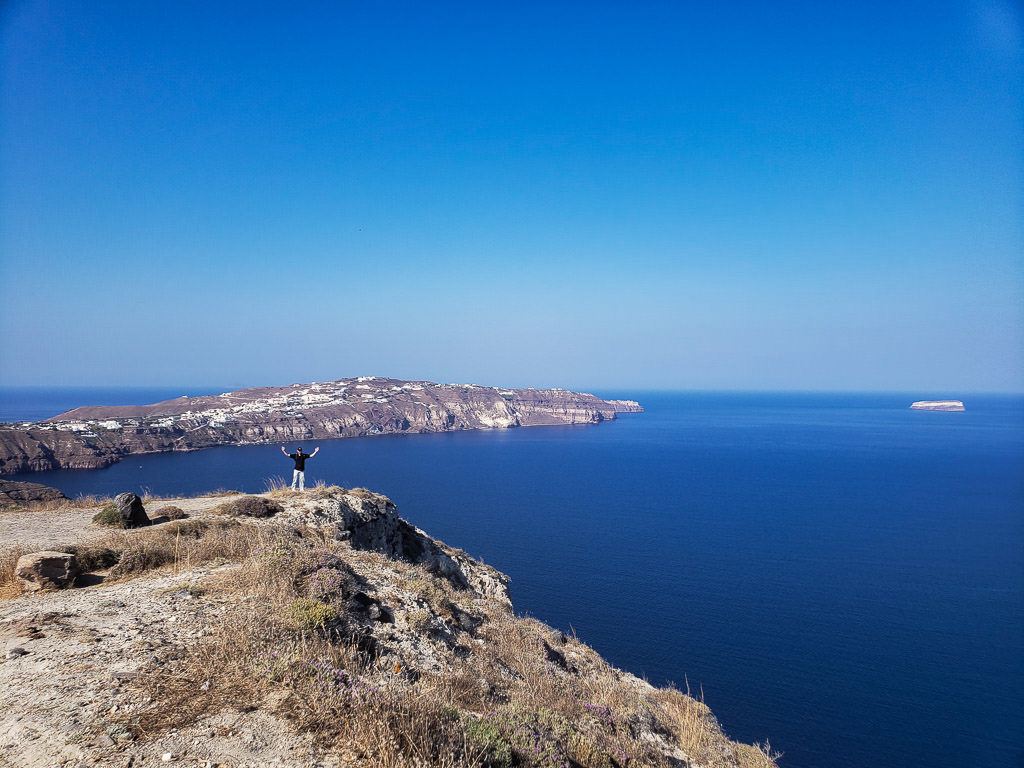
{"type": "Polygon", "coordinates": [[[0,766],[341,763],[259,711],[224,712],[144,743],[126,737],[117,716],[146,702],[124,682],[143,664],[180,654],[225,610],[229,597],[184,589],[211,572],[195,568],[0,603],[0,766]]]}

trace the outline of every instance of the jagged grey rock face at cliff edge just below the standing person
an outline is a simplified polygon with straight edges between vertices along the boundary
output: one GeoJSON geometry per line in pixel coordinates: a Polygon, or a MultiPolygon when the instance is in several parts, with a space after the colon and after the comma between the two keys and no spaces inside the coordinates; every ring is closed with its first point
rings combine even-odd
{"type": "Polygon", "coordinates": [[[311,509],[292,515],[336,541],[354,549],[380,552],[407,562],[426,565],[457,589],[511,605],[509,578],[474,560],[462,550],[432,539],[408,520],[387,497],[369,492],[342,492],[329,496],[311,509]]]}

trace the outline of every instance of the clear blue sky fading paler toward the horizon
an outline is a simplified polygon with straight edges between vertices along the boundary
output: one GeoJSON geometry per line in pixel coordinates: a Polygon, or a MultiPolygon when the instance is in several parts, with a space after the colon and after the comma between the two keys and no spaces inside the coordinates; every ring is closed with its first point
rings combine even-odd
{"type": "Polygon", "coordinates": [[[1009,0],[0,14],[0,384],[1024,390],[1009,0]]]}

